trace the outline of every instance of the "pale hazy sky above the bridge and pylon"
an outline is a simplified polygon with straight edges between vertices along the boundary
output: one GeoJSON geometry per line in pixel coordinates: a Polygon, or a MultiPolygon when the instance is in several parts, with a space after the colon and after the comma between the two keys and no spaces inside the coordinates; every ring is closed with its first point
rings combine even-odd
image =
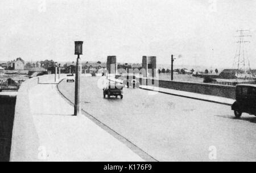
{"type": "Polygon", "coordinates": [[[82,61],[232,67],[237,29],[256,68],[254,0],[1,0],[0,61],[76,61],[74,41],[84,41],[82,61]]]}

